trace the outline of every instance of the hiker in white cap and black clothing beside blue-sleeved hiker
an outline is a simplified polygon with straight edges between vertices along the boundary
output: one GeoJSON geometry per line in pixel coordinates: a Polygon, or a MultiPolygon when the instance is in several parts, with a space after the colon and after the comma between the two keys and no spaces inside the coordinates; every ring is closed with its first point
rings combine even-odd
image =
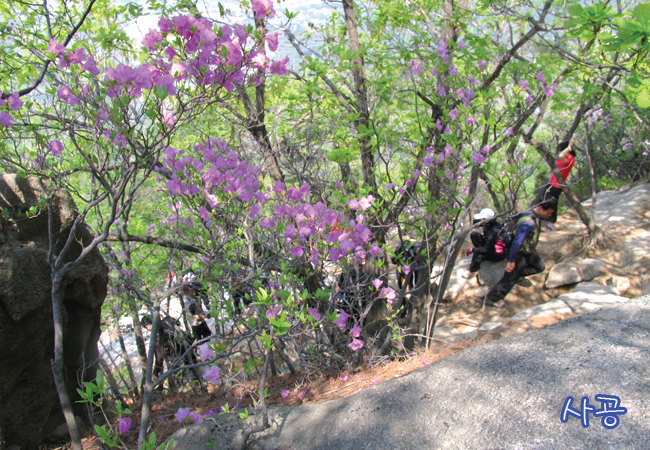
{"type": "Polygon", "coordinates": [[[472,255],[472,261],[463,278],[476,276],[483,261],[499,262],[505,259],[506,243],[499,239],[501,224],[496,221],[494,216],[494,211],[490,208],[485,208],[478,214],[474,214],[474,223],[481,224],[483,234],[476,231],[470,234],[474,248],[467,250],[467,256],[472,255]]]}

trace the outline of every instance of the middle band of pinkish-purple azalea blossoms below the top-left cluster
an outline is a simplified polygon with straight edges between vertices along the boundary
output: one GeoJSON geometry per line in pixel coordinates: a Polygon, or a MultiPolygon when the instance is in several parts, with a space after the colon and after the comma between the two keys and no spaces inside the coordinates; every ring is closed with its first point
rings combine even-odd
{"type": "Polygon", "coordinates": [[[158,170],[169,175],[167,190],[172,195],[201,199],[203,206],[197,214],[208,228],[214,225],[211,211],[237,200],[242,217],[254,221],[261,233],[275,233],[292,258],[308,258],[314,266],[324,260],[375,258],[384,253],[370,243],[370,229],[365,225],[364,212],[375,200],[371,195],[348,200],[347,208],[356,212],[350,220],[344,211],[310,202],[308,183],[262,186],[259,168],[241,158],[224,140],[197,144],[196,156],[173,147],[164,155],[164,165],[158,170]]]}

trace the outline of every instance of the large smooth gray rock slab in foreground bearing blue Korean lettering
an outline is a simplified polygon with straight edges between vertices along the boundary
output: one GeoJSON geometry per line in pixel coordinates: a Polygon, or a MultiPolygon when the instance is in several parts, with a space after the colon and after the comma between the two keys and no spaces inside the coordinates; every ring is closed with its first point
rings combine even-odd
{"type": "MultiPolygon", "coordinates": [[[[474,346],[403,377],[321,404],[270,409],[271,428],[251,449],[648,448],[650,299],[586,313],[474,346]],[[615,429],[560,421],[565,400],[617,396],[627,413],[615,429]]],[[[610,408],[611,409],[611,408],[610,408]]],[[[232,448],[234,415],[186,426],[175,448],[232,448]]],[[[255,418],[252,419],[255,421],[255,418]]]]}

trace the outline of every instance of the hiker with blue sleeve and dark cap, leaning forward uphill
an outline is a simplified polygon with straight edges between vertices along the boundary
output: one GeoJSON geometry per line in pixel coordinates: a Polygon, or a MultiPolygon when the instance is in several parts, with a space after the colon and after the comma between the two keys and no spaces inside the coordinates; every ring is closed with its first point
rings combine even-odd
{"type": "Polygon", "coordinates": [[[520,277],[544,271],[546,266],[537,253],[537,241],[542,228],[542,220],[548,220],[556,210],[557,199],[551,197],[537,205],[532,211],[519,214],[503,277],[485,297],[485,303],[488,306],[503,308],[506,306],[503,299],[520,277]]]}

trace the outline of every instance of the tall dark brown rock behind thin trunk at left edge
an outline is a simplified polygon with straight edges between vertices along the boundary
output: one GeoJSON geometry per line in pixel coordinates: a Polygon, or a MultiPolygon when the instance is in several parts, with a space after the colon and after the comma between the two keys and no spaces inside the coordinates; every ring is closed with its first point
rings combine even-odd
{"type": "MultiPolygon", "coordinates": [[[[55,253],[65,243],[77,215],[66,191],[52,192],[55,253]]],[[[48,214],[40,183],[16,175],[0,177],[0,405],[7,445],[36,448],[64,422],[52,378],[54,333],[48,214]]],[[[68,260],[92,236],[81,227],[68,260]],[[81,244],[80,244],[81,243],[81,244]]],[[[76,401],[79,380],[92,380],[101,333],[101,306],[108,270],[91,252],[81,267],[64,279],[64,355],[68,390],[76,401]]],[[[77,413],[84,408],[75,404],[77,413]]]]}

